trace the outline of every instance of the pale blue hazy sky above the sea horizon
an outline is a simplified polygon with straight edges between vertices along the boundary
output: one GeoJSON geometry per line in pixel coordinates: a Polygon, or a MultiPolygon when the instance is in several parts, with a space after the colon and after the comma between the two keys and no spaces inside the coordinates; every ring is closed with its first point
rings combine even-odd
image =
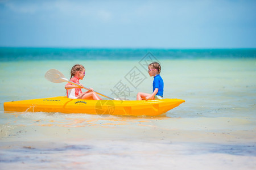
{"type": "Polygon", "coordinates": [[[0,46],[256,48],[256,1],[5,1],[0,46]]]}

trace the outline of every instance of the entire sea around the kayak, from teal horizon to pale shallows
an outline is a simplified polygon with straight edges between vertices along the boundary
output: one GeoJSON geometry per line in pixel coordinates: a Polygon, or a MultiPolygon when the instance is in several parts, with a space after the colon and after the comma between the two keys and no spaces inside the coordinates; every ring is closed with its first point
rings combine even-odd
{"type": "Polygon", "coordinates": [[[2,169],[255,168],[255,49],[1,48],[0,54],[2,169]],[[65,83],[44,74],[54,68],[69,78],[76,63],[85,66],[84,86],[115,97],[121,81],[135,100],[137,92],[152,91],[150,59],[161,63],[164,97],[186,101],[161,116],[3,111],[5,101],[64,96],[65,83]],[[134,68],[145,77],[139,83],[127,76],[134,68]]]}

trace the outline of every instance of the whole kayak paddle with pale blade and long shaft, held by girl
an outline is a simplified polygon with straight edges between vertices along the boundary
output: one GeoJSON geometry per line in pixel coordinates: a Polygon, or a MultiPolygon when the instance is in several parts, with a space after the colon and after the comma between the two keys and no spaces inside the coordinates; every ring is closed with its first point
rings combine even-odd
{"type": "MultiPolygon", "coordinates": [[[[79,84],[77,83],[74,83],[74,82],[71,82],[69,81],[68,79],[65,78],[65,76],[59,71],[59,70],[56,70],[56,69],[49,69],[47,72],[46,72],[46,75],[44,75],[44,77],[49,80],[50,82],[53,82],[53,83],[63,83],[63,82],[68,82],[68,83],[71,83],[71,84],[75,84],[76,86],[79,86],[81,87],[79,84]]],[[[85,88],[86,90],[90,90],[89,88],[87,87],[82,87],[82,88],[85,88]]],[[[106,96],[104,94],[101,94],[97,91],[94,91],[96,92],[96,94],[98,95],[101,95],[101,96],[104,96],[104,97],[107,97],[111,100],[114,100],[112,97],[109,97],[109,96],[106,96]]]]}

